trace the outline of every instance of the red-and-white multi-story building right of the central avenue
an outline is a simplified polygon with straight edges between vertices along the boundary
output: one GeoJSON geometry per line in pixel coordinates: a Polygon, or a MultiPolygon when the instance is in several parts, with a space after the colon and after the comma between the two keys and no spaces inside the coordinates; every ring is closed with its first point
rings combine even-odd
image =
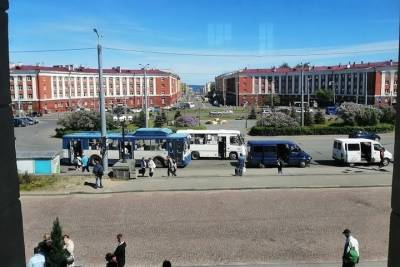
{"type": "Polygon", "coordinates": [[[398,62],[349,63],[336,66],[243,69],[215,78],[220,103],[241,106],[268,105],[279,95],[282,104],[300,101],[303,85],[305,101],[315,100],[318,89],[330,90],[336,103],[353,101],[391,105],[397,95],[398,62]],[[303,76],[303,83],[301,77],[303,76]],[[367,93],[367,97],[365,92],[367,93]]]}

